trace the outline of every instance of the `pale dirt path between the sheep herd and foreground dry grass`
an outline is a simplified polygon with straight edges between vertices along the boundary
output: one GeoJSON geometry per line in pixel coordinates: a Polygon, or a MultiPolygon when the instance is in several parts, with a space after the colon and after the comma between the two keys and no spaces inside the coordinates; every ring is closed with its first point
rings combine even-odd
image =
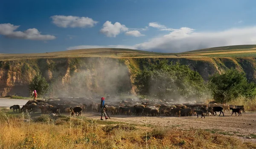
{"type": "MultiPolygon", "coordinates": [[[[112,121],[125,123],[145,124],[153,126],[177,126],[181,129],[197,128],[206,129],[212,133],[218,132],[223,135],[230,135],[243,139],[245,136],[255,135],[252,139],[243,139],[256,142],[256,113],[247,112],[242,116],[231,116],[231,113],[224,113],[225,116],[206,116],[205,118],[192,117],[137,117],[110,115],[112,121]]],[[[83,113],[82,116],[93,119],[100,119],[100,113],[83,113]]]]}

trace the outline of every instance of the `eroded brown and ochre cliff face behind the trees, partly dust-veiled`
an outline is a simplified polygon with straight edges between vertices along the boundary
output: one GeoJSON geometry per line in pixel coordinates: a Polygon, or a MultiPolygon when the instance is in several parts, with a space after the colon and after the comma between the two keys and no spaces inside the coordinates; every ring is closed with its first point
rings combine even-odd
{"type": "Polygon", "coordinates": [[[245,58],[107,58],[71,57],[0,61],[0,96],[28,97],[28,83],[41,72],[50,86],[51,96],[84,97],[92,95],[136,94],[132,85],[136,73],[150,63],[167,59],[189,65],[204,80],[215,72],[235,67],[244,71],[248,80],[256,78],[256,59],[245,58]]]}

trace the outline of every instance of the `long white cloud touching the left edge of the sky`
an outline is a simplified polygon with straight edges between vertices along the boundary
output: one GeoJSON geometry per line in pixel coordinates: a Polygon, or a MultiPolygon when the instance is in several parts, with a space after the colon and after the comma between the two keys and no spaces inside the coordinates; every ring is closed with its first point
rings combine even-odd
{"type": "Polygon", "coordinates": [[[14,26],[10,23],[0,24],[0,34],[9,37],[9,38],[20,38],[20,39],[29,39],[29,40],[53,40],[56,37],[53,35],[42,35],[38,29],[27,29],[24,32],[15,31],[20,26],[14,26]]]}

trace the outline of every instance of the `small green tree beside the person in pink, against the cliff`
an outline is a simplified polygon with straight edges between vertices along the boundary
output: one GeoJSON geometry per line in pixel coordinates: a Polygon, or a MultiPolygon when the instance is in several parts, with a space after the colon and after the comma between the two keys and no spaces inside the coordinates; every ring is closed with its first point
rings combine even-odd
{"type": "Polygon", "coordinates": [[[41,73],[37,73],[33,80],[29,83],[29,90],[38,93],[39,96],[45,95],[49,90],[49,83],[42,77],[41,73]]]}

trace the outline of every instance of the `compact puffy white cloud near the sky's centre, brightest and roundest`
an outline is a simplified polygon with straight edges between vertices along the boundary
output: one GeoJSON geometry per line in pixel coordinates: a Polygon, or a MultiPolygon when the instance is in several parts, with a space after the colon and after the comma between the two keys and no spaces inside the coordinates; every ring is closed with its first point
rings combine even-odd
{"type": "Polygon", "coordinates": [[[116,35],[126,31],[128,31],[128,28],[125,25],[122,25],[119,22],[112,24],[110,21],[106,21],[103,24],[103,28],[100,30],[100,32],[107,37],[116,37],[116,35]]]}

